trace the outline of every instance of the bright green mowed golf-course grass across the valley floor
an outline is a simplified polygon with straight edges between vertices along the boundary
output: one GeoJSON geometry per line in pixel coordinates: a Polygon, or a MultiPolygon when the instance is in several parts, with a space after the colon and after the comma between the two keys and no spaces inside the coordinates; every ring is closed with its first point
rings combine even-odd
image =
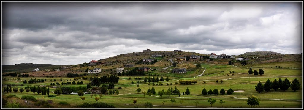
{"type": "MultiPolygon", "coordinates": [[[[192,63],[189,63],[189,65],[193,65],[192,63]]],[[[193,65],[195,66],[195,65],[193,65]]],[[[194,101],[199,101],[199,107],[210,107],[210,104],[206,101],[208,98],[215,98],[217,99],[217,102],[215,104],[212,105],[212,107],[222,107],[222,105],[219,103],[219,99],[222,99],[224,101],[226,101],[225,104],[223,104],[224,108],[233,108],[233,107],[240,107],[242,106],[243,108],[250,108],[247,105],[247,97],[254,95],[257,96],[257,98],[261,99],[260,102],[260,108],[283,108],[283,106],[285,106],[285,108],[301,108],[302,107],[302,101],[287,101],[287,100],[302,100],[302,70],[300,69],[275,69],[275,68],[263,68],[265,73],[264,75],[248,75],[248,67],[235,67],[235,66],[231,66],[231,65],[211,65],[211,64],[202,64],[202,67],[206,68],[206,71],[204,72],[203,76],[197,77],[198,73],[198,69],[196,69],[193,72],[187,72],[186,74],[176,74],[176,73],[167,73],[164,70],[156,70],[153,72],[159,75],[169,75],[170,80],[164,81],[164,82],[158,82],[158,83],[163,83],[163,85],[158,85],[158,86],[152,86],[152,83],[150,83],[150,86],[148,86],[147,83],[140,83],[140,87],[137,87],[136,85],[136,81],[134,78],[135,77],[149,77],[148,75],[146,76],[119,76],[120,80],[119,83],[115,84],[115,88],[114,90],[118,90],[118,87],[122,87],[122,89],[119,89],[119,94],[122,95],[105,95],[104,97],[102,97],[98,102],[106,102],[108,104],[112,104],[117,108],[133,108],[134,105],[125,105],[125,104],[133,104],[133,99],[137,99],[138,102],[136,103],[136,105],[139,105],[139,108],[144,108],[144,106],[140,105],[140,104],[144,104],[145,102],[149,101],[152,102],[153,105],[162,105],[162,101],[166,100],[167,102],[164,105],[167,105],[168,107],[164,107],[164,108],[171,108],[171,102],[170,99],[171,97],[174,97],[173,99],[175,99],[177,102],[173,103],[173,106],[178,106],[178,107],[173,107],[173,108],[183,108],[183,107],[179,107],[180,104],[178,103],[179,100],[183,100],[184,103],[182,104],[182,106],[195,106],[194,101]],[[162,72],[163,71],[163,72],[162,72]],[[224,71],[224,72],[221,72],[224,71]],[[235,71],[234,76],[232,76],[229,71],[235,71]],[[196,73],[195,73],[196,72],[196,73]],[[167,74],[166,74],[167,73],[167,74]],[[227,74],[229,74],[229,76],[227,76],[227,74]],[[174,75],[176,77],[174,77],[174,75]],[[182,78],[178,78],[177,76],[182,76],[182,78]],[[189,77],[191,76],[191,77],[189,77]],[[195,78],[193,78],[193,76],[195,76],[195,78]],[[132,79],[129,80],[128,77],[131,77],[132,79]],[[279,79],[282,78],[283,80],[285,78],[287,78],[290,82],[292,82],[292,80],[294,80],[295,78],[297,78],[300,83],[301,83],[301,87],[300,90],[297,91],[292,91],[290,88],[288,90],[285,90],[284,92],[282,90],[270,90],[268,92],[263,91],[262,93],[258,93],[255,90],[255,86],[257,85],[257,83],[259,81],[261,81],[261,83],[265,83],[265,81],[267,81],[268,79],[271,81],[274,81],[275,79],[279,79]],[[178,82],[179,80],[197,80],[196,84],[175,84],[175,82],[178,82]],[[223,83],[216,83],[216,80],[223,80],[223,83]],[[130,84],[131,82],[134,82],[134,84],[130,84]],[[203,81],[206,81],[206,83],[203,83],[203,81]],[[169,83],[169,86],[166,85],[166,83],[169,83]],[[170,85],[170,83],[172,83],[172,85],[170,85]],[[140,88],[141,91],[147,91],[148,88],[152,88],[154,87],[156,90],[156,94],[154,94],[154,96],[159,96],[157,94],[158,91],[164,89],[164,90],[168,90],[168,88],[173,88],[177,87],[177,89],[182,93],[185,92],[185,90],[188,89],[190,90],[191,94],[190,95],[181,95],[181,97],[185,97],[185,98],[178,98],[178,95],[173,94],[170,96],[170,98],[165,98],[168,97],[166,95],[163,96],[163,98],[160,97],[149,97],[148,95],[146,95],[145,97],[140,93],[137,94],[136,89],[140,88]],[[244,92],[234,92],[233,94],[227,95],[227,94],[219,94],[219,95],[202,95],[201,92],[203,90],[203,88],[206,88],[207,91],[208,90],[214,90],[215,88],[220,90],[220,89],[225,89],[228,90],[229,88],[232,88],[234,91],[237,90],[244,90],[244,92]],[[237,98],[241,98],[241,99],[237,99],[237,98]],[[244,98],[244,99],[243,99],[244,98]],[[284,99],[284,100],[268,100],[268,99],[284,99]]],[[[200,72],[202,72],[204,70],[204,68],[199,68],[201,69],[200,72]]],[[[259,69],[259,68],[254,68],[255,69],[259,69]]],[[[262,68],[261,68],[262,69],[262,68]]],[[[201,73],[200,73],[201,74],[201,73]]],[[[100,77],[100,76],[98,76],[100,77]]],[[[153,76],[150,76],[151,78],[153,76]]],[[[157,77],[157,76],[155,76],[157,77]]],[[[158,76],[159,78],[161,76],[158,76]]],[[[166,76],[163,76],[164,79],[167,78],[166,76]]],[[[3,77],[2,77],[3,78],[3,77]]],[[[5,77],[6,79],[8,78],[13,78],[10,76],[5,77]]],[[[15,77],[17,78],[17,77],[15,77]]],[[[33,84],[24,84],[24,85],[48,85],[50,83],[50,79],[54,79],[54,78],[37,78],[36,79],[47,79],[46,82],[44,83],[33,83],[33,84]]],[[[24,79],[30,79],[30,78],[22,78],[21,77],[21,81],[14,81],[14,80],[2,80],[2,84],[5,85],[7,83],[17,83],[18,84],[22,84],[22,81],[24,79]]],[[[71,82],[74,80],[74,78],[63,78],[64,80],[69,80],[72,79],[71,82]]],[[[78,80],[79,82],[81,80],[78,80]]],[[[86,86],[87,83],[89,83],[89,80],[82,80],[84,82],[84,84],[82,85],[67,85],[67,86],[86,86]]],[[[143,81],[140,80],[140,81],[143,81]]],[[[54,81],[52,81],[54,82],[54,81]]],[[[60,78],[56,78],[56,82],[59,82],[61,84],[62,81],[60,81],[60,78]]],[[[55,83],[56,83],[55,82],[55,83]]],[[[67,82],[67,81],[65,81],[67,82]]],[[[70,80],[68,81],[70,82],[70,80]]],[[[77,80],[75,81],[77,82],[77,80]]],[[[156,84],[156,83],[155,83],[156,84]]],[[[108,84],[106,84],[108,85],[108,84]]],[[[62,86],[62,85],[60,85],[62,86]]],[[[66,86],[66,85],[64,85],[66,86]]],[[[6,87],[6,86],[3,86],[6,87]]],[[[20,86],[18,86],[20,87],[20,86]]],[[[14,87],[12,87],[14,88],[14,87]]],[[[50,91],[54,91],[54,88],[50,88],[50,91]]],[[[13,93],[13,91],[12,91],[13,93]]],[[[13,93],[15,94],[15,93],[13,93]]],[[[17,92],[17,96],[18,97],[22,97],[22,95],[25,95],[26,92],[23,92],[22,94],[18,91],[17,92]]],[[[53,94],[53,93],[50,93],[53,94]]],[[[3,93],[2,93],[3,95],[3,93]]],[[[5,93],[4,95],[7,95],[7,93],[5,93]]],[[[33,94],[32,92],[29,92],[29,94],[26,95],[33,95],[36,98],[42,98],[42,95],[37,95],[37,94],[33,94]]],[[[67,101],[71,104],[82,104],[84,102],[88,102],[88,103],[94,103],[95,99],[91,98],[89,96],[89,94],[85,94],[86,99],[83,101],[80,99],[80,97],[78,97],[78,95],[71,95],[71,94],[61,94],[59,96],[56,96],[55,98],[53,97],[44,97],[45,99],[53,99],[56,102],[57,101],[67,101]]],[[[93,96],[94,97],[94,96],[93,96]]],[[[163,108],[161,106],[154,106],[154,108],[163,108]]],[[[191,107],[184,107],[184,108],[191,108],[191,107]]],[[[257,106],[257,108],[259,108],[259,106],[257,106]]]]}

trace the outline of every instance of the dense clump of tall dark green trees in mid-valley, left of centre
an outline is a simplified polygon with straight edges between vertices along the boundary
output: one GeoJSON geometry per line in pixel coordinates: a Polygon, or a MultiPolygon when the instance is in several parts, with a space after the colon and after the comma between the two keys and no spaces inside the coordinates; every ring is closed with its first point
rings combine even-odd
{"type": "Polygon", "coordinates": [[[110,77],[104,75],[103,77],[93,77],[90,79],[92,86],[100,86],[101,83],[118,83],[119,77],[115,75],[111,75],[110,77]]]}

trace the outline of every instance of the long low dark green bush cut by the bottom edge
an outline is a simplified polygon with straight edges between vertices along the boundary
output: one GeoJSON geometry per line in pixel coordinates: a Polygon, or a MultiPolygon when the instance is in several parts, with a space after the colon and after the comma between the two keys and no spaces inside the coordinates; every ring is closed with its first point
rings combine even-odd
{"type": "Polygon", "coordinates": [[[92,104],[85,102],[81,105],[77,105],[77,107],[79,107],[79,108],[116,108],[113,105],[109,105],[109,104],[106,104],[103,102],[96,102],[96,103],[92,103],[92,104]]]}

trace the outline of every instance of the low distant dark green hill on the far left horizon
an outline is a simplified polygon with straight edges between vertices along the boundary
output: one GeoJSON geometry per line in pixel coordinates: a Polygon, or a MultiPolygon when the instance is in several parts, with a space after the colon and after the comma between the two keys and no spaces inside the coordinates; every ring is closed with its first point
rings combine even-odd
{"type": "Polygon", "coordinates": [[[33,64],[33,63],[20,63],[15,65],[2,65],[2,73],[6,72],[16,72],[16,73],[23,73],[23,72],[31,72],[35,68],[39,68],[40,71],[45,69],[57,69],[61,66],[69,66],[69,65],[51,65],[51,64],[33,64]]]}

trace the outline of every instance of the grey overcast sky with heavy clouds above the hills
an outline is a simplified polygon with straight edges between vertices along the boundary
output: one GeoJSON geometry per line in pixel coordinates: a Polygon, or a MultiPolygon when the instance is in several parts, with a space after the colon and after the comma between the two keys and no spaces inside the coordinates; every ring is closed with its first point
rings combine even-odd
{"type": "Polygon", "coordinates": [[[302,53],[302,2],[2,2],[2,64],[119,54],[302,53]]]}

